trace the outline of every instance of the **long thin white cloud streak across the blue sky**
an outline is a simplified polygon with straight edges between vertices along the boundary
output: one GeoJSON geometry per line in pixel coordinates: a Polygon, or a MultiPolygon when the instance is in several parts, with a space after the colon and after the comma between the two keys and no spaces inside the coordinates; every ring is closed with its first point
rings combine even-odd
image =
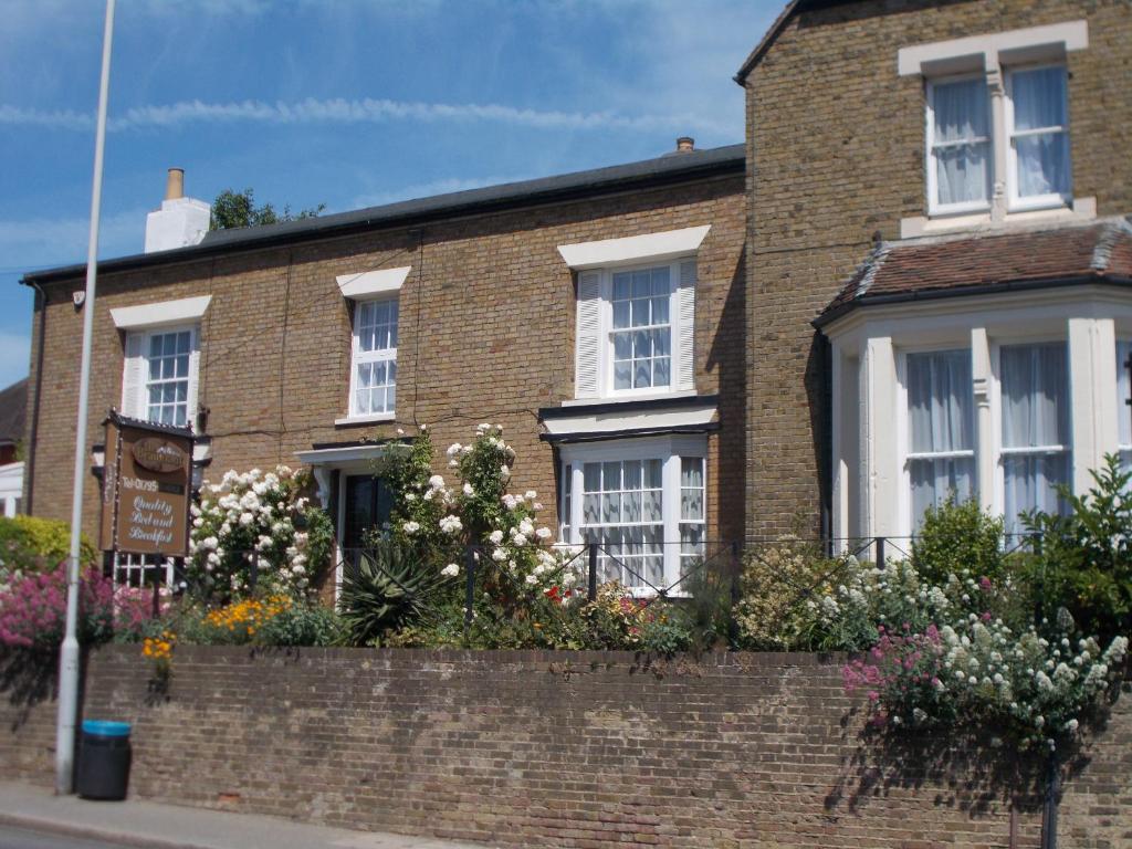
{"type": "MultiPolygon", "coordinates": [[[[273,125],[351,125],[386,123],[391,121],[490,122],[531,129],[559,130],[636,130],[653,132],[674,127],[712,127],[723,129],[712,119],[691,114],[626,114],[614,110],[597,112],[567,112],[558,110],[518,109],[499,103],[424,103],[392,100],[316,100],[308,97],[288,103],[247,100],[229,103],[207,103],[199,100],[181,101],[168,105],[134,106],[109,120],[111,131],[148,128],[177,129],[190,125],[208,123],[273,123],[273,125]]],[[[0,125],[10,127],[42,127],[49,129],[89,130],[94,127],[91,114],[66,111],[45,111],[0,105],[0,125]]]]}

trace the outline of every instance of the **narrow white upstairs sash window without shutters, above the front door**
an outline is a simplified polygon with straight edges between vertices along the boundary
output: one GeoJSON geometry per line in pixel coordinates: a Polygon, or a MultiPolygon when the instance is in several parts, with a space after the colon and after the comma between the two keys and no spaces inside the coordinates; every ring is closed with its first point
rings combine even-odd
{"type": "Polygon", "coordinates": [[[392,414],[397,401],[397,301],[359,301],[354,310],[350,415],[392,414]]]}

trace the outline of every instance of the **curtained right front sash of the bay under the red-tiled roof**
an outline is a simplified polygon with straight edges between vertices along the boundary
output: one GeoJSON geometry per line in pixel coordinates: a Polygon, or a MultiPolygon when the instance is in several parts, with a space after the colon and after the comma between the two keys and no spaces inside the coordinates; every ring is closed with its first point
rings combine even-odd
{"type": "Polygon", "coordinates": [[[1055,487],[1070,470],[1065,345],[1012,345],[1000,361],[1006,531],[1019,533],[1019,513],[1064,508],[1055,487]]]}

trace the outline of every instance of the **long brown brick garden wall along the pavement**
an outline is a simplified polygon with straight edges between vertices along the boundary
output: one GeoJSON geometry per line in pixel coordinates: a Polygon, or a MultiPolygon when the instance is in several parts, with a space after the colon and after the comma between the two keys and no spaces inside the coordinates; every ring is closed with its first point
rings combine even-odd
{"type": "MultiPolygon", "coordinates": [[[[837,658],[100,651],[86,715],[134,722],[131,792],[547,847],[1036,847],[1013,753],[863,735],[837,658]]],[[[1129,687],[1125,686],[1125,691],[1129,687]]],[[[12,687],[8,686],[11,695],[12,687]]],[[[49,783],[53,701],[0,704],[0,774],[49,783]]],[[[1074,758],[1060,846],[1132,844],[1132,693],[1074,758]]]]}

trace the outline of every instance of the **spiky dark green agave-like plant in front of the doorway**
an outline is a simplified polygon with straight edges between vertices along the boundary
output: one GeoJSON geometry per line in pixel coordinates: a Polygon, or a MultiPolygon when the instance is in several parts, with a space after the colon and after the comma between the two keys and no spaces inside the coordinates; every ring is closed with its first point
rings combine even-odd
{"type": "Polygon", "coordinates": [[[346,561],[338,611],[350,642],[371,645],[385,633],[420,619],[441,580],[427,565],[405,558],[388,543],[346,561]]]}

